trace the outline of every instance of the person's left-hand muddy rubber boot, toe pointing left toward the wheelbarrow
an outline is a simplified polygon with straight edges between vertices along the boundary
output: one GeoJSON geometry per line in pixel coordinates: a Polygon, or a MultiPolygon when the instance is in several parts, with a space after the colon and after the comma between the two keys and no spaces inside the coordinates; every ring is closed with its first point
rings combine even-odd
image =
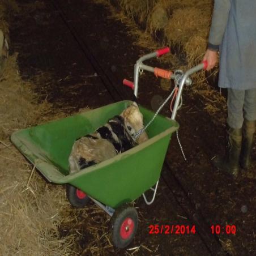
{"type": "Polygon", "coordinates": [[[242,128],[233,129],[227,125],[225,138],[225,156],[216,156],[212,163],[221,172],[231,175],[233,178],[238,176],[239,157],[242,144],[242,128]]]}

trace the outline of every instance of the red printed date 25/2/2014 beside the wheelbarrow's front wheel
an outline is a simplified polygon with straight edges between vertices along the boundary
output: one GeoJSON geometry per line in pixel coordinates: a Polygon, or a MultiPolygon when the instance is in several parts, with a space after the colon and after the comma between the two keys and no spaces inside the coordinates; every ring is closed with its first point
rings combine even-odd
{"type": "Polygon", "coordinates": [[[189,234],[195,233],[195,226],[189,225],[150,225],[150,234],[189,234]]]}

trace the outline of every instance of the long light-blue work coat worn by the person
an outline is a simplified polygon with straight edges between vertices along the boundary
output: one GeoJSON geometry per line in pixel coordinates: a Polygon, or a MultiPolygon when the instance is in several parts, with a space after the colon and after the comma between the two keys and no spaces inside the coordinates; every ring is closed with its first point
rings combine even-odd
{"type": "Polygon", "coordinates": [[[218,46],[219,87],[256,88],[256,0],[215,0],[209,48],[218,46]]]}

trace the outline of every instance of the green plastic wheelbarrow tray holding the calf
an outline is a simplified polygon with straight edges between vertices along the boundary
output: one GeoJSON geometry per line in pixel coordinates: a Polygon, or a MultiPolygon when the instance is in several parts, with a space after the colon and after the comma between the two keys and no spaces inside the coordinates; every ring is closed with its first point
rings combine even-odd
{"type": "MultiPolygon", "coordinates": [[[[11,142],[45,176],[56,184],[69,183],[99,202],[117,208],[132,202],[159,180],[170,136],[178,123],[157,115],[148,126],[150,138],[112,159],[69,174],[69,155],[76,139],[92,133],[132,101],[76,114],[61,120],[15,131],[11,142]]],[[[155,113],[139,107],[147,124],[155,113]]]]}

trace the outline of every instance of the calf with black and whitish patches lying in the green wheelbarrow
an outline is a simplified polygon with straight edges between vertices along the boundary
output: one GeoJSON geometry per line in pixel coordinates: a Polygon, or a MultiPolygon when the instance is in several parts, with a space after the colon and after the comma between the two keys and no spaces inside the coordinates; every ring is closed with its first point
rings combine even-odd
{"type": "Polygon", "coordinates": [[[132,136],[143,129],[143,116],[136,103],[110,118],[94,133],[75,141],[70,156],[70,173],[101,163],[148,140],[144,132],[136,140],[132,136]]]}

